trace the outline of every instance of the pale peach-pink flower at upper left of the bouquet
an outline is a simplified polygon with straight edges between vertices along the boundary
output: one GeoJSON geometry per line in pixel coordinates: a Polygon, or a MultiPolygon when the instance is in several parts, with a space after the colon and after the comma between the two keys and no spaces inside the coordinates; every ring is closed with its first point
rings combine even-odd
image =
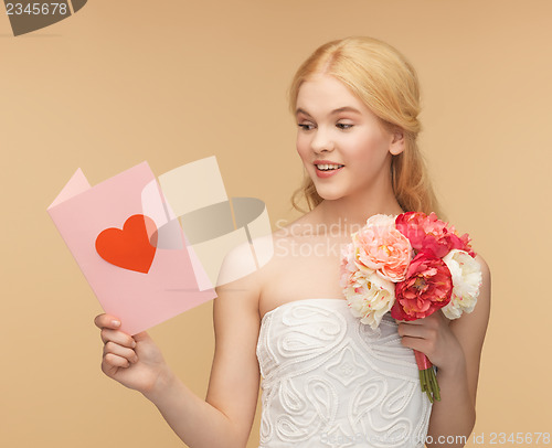
{"type": "Polygon", "coordinates": [[[395,228],[394,218],[374,215],[353,235],[357,262],[393,282],[404,280],[412,259],[408,239],[395,228]]]}

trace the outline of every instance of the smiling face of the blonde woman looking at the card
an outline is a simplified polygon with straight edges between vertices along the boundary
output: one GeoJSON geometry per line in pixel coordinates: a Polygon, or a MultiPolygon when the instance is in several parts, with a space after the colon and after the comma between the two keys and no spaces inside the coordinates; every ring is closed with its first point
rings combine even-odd
{"type": "Polygon", "coordinates": [[[341,82],[328,75],[304,82],[296,118],[297,152],[322,199],[389,188],[391,157],[403,139],[341,82]]]}

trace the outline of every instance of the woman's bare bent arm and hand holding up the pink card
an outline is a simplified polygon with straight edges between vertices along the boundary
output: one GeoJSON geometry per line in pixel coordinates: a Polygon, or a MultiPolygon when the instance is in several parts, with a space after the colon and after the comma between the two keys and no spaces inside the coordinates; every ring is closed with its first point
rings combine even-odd
{"type": "Polygon", "coordinates": [[[105,343],[104,373],[141,392],[192,448],[243,448],[247,442],[261,380],[255,353],[259,288],[254,277],[216,288],[215,353],[205,399],[173,374],[146,332],[131,338],[114,329],[108,314],[95,320],[105,343]]]}

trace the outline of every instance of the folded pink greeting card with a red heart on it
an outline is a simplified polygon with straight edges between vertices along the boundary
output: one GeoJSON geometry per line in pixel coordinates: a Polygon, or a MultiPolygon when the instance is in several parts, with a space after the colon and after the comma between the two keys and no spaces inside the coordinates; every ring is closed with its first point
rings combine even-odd
{"type": "Polygon", "coordinates": [[[102,308],[129,334],[216,296],[147,162],[95,186],[77,170],[47,212],[102,308]]]}

